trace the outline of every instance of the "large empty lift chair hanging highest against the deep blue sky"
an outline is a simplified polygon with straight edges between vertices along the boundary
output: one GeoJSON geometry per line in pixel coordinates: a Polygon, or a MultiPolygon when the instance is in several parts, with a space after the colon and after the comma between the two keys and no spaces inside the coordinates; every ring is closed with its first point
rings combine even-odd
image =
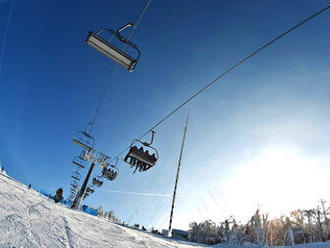
{"type": "Polygon", "coordinates": [[[86,43],[91,47],[95,48],[99,52],[103,53],[104,55],[108,56],[121,66],[125,67],[129,71],[133,71],[137,62],[140,59],[141,52],[137,48],[137,46],[129,41],[127,38],[123,37],[120,32],[124,29],[133,26],[131,23],[127,23],[126,25],[120,27],[116,31],[112,29],[101,29],[96,34],[92,31],[89,32],[86,43]],[[133,48],[137,55],[135,58],[128,55],[126,52],[120,50],[119,48],[115,47],[113,44],[110,44],[106,40],[104,40],[100,34],[103,32],[109,32],[114,38],[117,38],[121,43],[133,48]]]}

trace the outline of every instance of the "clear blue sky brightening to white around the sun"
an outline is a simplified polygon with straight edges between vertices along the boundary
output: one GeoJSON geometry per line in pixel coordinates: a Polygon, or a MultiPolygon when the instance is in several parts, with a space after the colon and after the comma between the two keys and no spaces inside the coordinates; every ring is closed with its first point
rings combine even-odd
{"type": "MultiPolygon", "coordinates": [[[[145,4],[0,1],[0,157],[11,176],[68,194],[79,153],[72,136],[91,120],[113,65],[87,47],[87,33],[134,22],[145,4]]],[[[114,156],[229,66],[325,5],[154,0],[133,37],[142,51],[135,72],[115,68],[94,128],[96,149],[114,156]]],[[[121,162],[118,179],[86,203],[124,221],[166,227],[170,197],[119,192],[172,194],[191,111],[174,227],[230,214],[244,220],[257,207],[275,215],[315,206],[330,193],[329,29],[328,11],[226,76],[155,130],[155,168],[132,174],[121,162]]]]}

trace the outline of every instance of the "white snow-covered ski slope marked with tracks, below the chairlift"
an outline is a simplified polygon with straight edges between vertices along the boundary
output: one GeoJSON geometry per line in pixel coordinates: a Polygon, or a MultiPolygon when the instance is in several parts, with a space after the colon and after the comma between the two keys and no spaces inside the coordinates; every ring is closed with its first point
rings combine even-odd
{"type": "MultiPolygon", "coordinates": [[[[230,246],[223,244],[206,246],[176,241],[123,227],[55,204],[38,192],[28,189],[26,185],[0,174],[0,247],[224,248],[230,246]]],[[[330,248],[330,243],[294,246],[294,248],[321,247],[330,248]]]]}

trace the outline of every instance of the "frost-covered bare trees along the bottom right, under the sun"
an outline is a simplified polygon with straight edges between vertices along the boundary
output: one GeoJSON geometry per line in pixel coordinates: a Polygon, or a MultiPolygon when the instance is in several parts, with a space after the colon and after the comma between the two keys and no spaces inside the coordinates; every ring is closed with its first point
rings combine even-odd
{"type": "Polygon", "coordinates": [[[189,225],[189,240],[202,244],[254,243],[259,246],[295,245],[330,240],[330,206],[320,200],[316,208],[291,211],[288,216],[269,219],[259,209],[246,224],[233,216],[216,224],[212,220],[189,225]]]}

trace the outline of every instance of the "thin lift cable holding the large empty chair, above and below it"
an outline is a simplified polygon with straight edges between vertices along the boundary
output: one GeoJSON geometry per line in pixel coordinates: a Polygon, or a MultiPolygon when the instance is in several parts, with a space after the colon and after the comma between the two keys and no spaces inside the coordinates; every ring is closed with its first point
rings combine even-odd
{"type": "MultiPolygon", "coordinates": [[[[127,38],[128,41],[130,41],[130,40],[132,39],[132,37],[133,37],[133,35],[134,35],[134,33],[135,33],[135,30],[136,30],[136,28],[138,27],[138,25],[140,24],[142,17],[144,16],[145,12],[147,11],[149,5],[151,4],[151,1],[152,1],[152,0],[149,0],[149,1],[147,2],[147,4],[145,5],[145,7],[143,8],[143,10],[142,10],[142,12],[141,12],[139,18],[137,19],[137,21],[136,21],[135,24],[133,25],[132,31],[130,32],[130,34],[128,35],[128,38],[127,38]]],[[[124,49],[128,49],[128,45],[127,45],[127,44],[124,45],[124,49]]],[[[99,112],[100,112],[100,108],[101,108],[101,106],[102,106],[102,103],[103,103],[103,101],[104,101],[105,95],[106,95],[106,93],[107,93],[107,91],[108,91],[108,88],[109,88],[109,85],[110,85],[110,83],[111,83],[111,79],[112,79],[112,77],[113,77],[115,67],[116,67],[116,64],[114,64],[114,65],[112,66],[111,71],[110,71],[110,74],[109,74],[109,77],[108,77],[108,80],[107,80],[106,84],[104,85],[104,89],[103,89],[103,91],[102,91],[102,94],[101,94],[101,96],[100,96],[100,100],[99,100],[99,102],[98,102],[98,105],[97,105],[96,110],[95,110],[94,115],[93,115],[93,119],[92,119],[92,121],[91,121],[91,129],[90,129],[90,132],[92,132],[92,130],[93,130],[93,126],[94,126],[94,124],[95,124],[95,122],[96,122],[96,119],[97,119],[97,116],[98,116],[98,114],[99,114],[99,112]]]]}

